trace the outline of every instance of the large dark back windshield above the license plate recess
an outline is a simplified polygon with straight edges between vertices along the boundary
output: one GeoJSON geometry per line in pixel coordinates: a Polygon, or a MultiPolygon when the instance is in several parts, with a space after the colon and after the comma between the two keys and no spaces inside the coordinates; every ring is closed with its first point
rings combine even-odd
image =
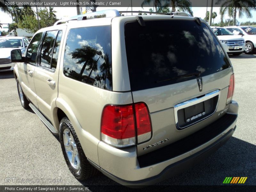
{"type": "Polygon", "coordinates": [[[126,55],[132,91],[210,75],[230,67],[220,44],[204,23],[191,20],[125,24],[126,55]]]}

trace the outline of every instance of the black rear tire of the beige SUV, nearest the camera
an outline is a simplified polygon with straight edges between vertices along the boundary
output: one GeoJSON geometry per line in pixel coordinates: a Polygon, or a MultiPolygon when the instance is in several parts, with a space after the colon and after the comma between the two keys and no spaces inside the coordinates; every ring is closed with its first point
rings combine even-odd
{"type": "MultiPolygon", "coordinates": [[[[73,128],[73,125],[71,124],[71,122],[69,121],[69,119],[67,117],[63,117],[60,121],[60,132],[59,132],[59,136],[60,136],[60,145],[61,145],[61,149],[63,152],[63,156],[65,158],[65,161],[68,165],[68,168],[70,170],[70,172],[76,177],[76,179],[78,180],[86,180],[92,176],[95,176],[98,173],[98,170],[96,168],[94,168],[87,160],[84,151],[81,147],[81,144],[78,140],[78,137],[76,135],[76,132],[73,128]],[[72,139],[74,139],[76,147],[72,147],[72,154],[74,153],[73,151],[76,151],[76,153],[78,152],[78,158],[80,159],[79,162],[79,166],[78,168],[75,168],[74,166],[78,165],[77,163],[77,159],[76,159],[76,165],[72,165],[72,163],[70,162],[70,160],[68,159],[68,155],[66,152],[66,148],[65,148],[65,144],[64,144],[64,131],[65,133],[67,133],[67,131],[69,131],[69,135],[72,135],[72,139]]],[[[71,137],[71,136],[70,136],[71,137]]],[[[71,143],[71,141],[69,140],[69,143],[71,143]]],[[[70,149],[71,149],[71,144],[69,144],[70,149]]],[[[71,153],[71,150],[70,150],[71,153]]]]}

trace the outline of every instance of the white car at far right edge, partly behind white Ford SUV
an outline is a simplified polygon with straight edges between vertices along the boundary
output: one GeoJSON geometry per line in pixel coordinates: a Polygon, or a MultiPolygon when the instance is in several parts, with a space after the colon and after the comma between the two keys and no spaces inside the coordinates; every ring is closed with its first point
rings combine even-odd
{"type": "Polygon", "coordinates": [[[228,26],[225,27],[234,35],[243,37],[245,40],[244,52],[251,54],[256,51],[256,27],[250,26],[228,26]]]}

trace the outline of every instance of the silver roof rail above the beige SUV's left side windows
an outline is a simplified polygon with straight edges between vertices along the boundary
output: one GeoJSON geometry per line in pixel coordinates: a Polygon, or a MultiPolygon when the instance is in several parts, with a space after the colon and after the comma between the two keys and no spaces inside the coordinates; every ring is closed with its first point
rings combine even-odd
{"type": "Polygon", "coordinates": [[[71,21],[71,20],[86,20],[86,19],[94,19],[94,18],[99,18],[104,16],[104,17],[119,17],[121,16],[120,13],[113,9],[113,10],[104,10],[104,11],[96,11],[96,12],[92,12],[92,13],[85,13],[85,14],[82,14],[82,15],[76,15],[76,16],[73,16],[73,17],[69,17],[69,18],[66,18],[66,19],[61,19],[61,20],[58,20],[54,23],[54,25],[59,25],[63,22],[68,22],[68,21],[71,21]]]}

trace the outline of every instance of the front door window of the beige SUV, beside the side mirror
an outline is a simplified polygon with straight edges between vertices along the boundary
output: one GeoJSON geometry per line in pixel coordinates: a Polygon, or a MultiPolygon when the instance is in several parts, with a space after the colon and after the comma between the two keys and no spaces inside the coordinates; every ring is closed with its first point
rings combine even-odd
{"type": "Polygon", "coordinates": [[[35,63],[37,61],[37,53],[38,53],[38,46],[41,41],[43,33],[37,33],[34,38],[30,41],[30,44],[28,45],[28,51],[27,51],[27,61],[30,63],[35,63]]]}

